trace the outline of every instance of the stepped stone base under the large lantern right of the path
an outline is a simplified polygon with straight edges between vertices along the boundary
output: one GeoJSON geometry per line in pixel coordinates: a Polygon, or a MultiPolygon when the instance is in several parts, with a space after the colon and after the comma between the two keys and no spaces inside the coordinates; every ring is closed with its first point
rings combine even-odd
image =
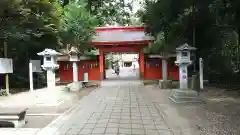
{"type": "Polygon", "coordinates": [[[169,97],[174,103],[201,103],[198,92],[190,89],[173,89],[169,97]]]}

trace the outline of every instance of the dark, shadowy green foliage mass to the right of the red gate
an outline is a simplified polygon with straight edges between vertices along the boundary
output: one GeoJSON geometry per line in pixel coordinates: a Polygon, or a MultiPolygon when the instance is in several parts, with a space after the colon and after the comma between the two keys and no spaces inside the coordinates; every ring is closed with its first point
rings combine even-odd
{"type": "Polygon", "coordinates": [[[239,0],[145,0],[139,15],[157,39],[147,50],[171,52],[187,42],[198,48],[197,58],[203,57],[205,77],[238,84],[239,6],[239,0]]]}

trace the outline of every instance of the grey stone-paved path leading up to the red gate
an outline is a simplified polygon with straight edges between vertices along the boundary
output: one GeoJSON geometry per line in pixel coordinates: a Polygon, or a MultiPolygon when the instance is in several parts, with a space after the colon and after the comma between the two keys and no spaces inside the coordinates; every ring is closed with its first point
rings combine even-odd
{"type": "Polygon", "coordinates": [[[173,135],[138,81],[105,83],[37,135],[173,135]]]}

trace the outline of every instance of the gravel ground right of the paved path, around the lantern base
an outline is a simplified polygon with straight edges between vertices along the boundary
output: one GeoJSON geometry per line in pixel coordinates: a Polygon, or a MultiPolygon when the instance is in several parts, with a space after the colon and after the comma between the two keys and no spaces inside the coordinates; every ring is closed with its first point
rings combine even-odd
{"type": "Polygon", "coordinates": [[[149,88],[166,121],[180,135],[239,135],[240,97],[237,92],[206,88],[205,103],[174,104],[170,90],[149,88]]]}

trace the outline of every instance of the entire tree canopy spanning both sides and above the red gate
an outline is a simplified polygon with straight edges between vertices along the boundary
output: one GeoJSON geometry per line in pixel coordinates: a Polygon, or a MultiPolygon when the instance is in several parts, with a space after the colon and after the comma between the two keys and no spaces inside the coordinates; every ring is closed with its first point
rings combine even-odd
{"type": "MultiPolygon", "coordinates": [[[[15,68],[12,82],[23,84],[22,77],[28,81],[28,60],[39,59],[36,54],[44,48],[71,45],[83,52],[96,26],[141,24],[131,20],[133,2],[1,0],[0,55],[7,45],[15,68]]],[[[146,32],[156,38],[149,53],[171,52],[188,43],[197,48],[197,57],[203,57],[208,76],[231,75],[238,80],[239,6],[239,0],[144,0],[137,15],[148,26],[146,32]]]]}

